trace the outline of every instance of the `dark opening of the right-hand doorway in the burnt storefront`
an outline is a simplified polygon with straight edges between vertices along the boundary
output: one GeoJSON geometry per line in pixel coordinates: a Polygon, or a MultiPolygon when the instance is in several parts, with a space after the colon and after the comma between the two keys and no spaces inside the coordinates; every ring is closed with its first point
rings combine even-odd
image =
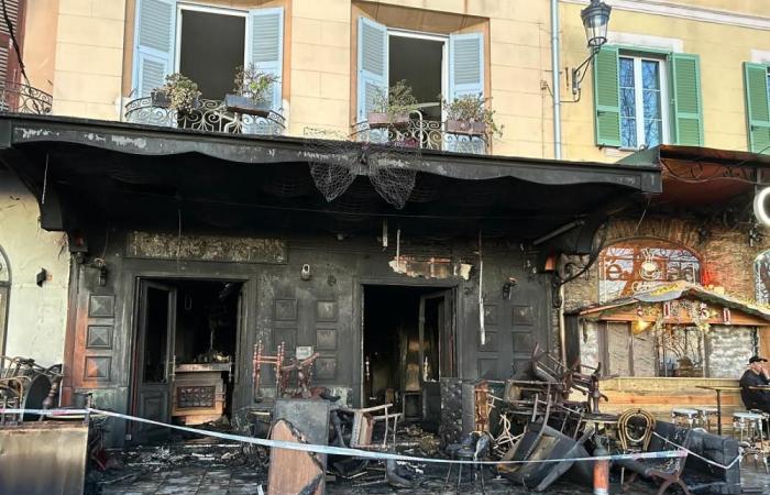
{"type": "Polygon", "coordinates": [[[362,404],[422,419],[426,387],[457,376],[453,289],[365,285],[363,314],[362,404]]]}

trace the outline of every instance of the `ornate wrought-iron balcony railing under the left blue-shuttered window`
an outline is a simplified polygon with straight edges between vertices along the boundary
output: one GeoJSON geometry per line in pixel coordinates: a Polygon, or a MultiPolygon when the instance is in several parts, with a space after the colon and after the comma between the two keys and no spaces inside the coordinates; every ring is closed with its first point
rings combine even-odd
{"type": "Polygon", "coordinates": [[[127,103],[125,121],[230,134],[279,135],[286,129],[278,112],[271,111],[267,117],[238,113],[228,110],[223,100],[209,99],[200,99],[195,110],[182,112],[154,105],[151,97],[138,98],[127,103]]]}

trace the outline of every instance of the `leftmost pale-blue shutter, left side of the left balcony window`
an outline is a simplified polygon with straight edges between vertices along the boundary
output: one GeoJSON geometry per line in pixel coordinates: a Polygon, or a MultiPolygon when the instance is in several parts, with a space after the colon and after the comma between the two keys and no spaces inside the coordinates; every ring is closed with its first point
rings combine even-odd
{"type": "Polygon", "coordinates": [[[136,0],[133,87],[140,97],[174,72],[176,0],[136,0]]]}

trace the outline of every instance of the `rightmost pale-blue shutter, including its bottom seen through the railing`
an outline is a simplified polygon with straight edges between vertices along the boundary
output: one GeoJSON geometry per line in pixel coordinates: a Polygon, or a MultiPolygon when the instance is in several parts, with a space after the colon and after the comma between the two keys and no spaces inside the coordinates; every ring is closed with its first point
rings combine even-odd
{"type": "MultiPolygon", "coordinates": [[[[466,95],[484,95],[484,35],[482,33],[449,36],[449,95],[452,101],[466,95]]],[[[486,143],[477,136],[450,135],[444,150],[484,154],[486,143]]]]}

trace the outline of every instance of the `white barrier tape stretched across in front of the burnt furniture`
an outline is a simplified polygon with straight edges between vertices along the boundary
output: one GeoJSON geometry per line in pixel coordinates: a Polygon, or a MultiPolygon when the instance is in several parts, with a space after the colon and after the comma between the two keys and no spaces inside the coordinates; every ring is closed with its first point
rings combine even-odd
{"type": "Polygon", "coordinates": [[[223,440],[233,440],[237,442],[243,442],[243,443],[252,443],[256,446],[262,446],[262,447],[270,447],[270,448],[277,448],[277,449],[287,449],[287,450],[299,450],[304,452],[316,452],[316,453],[323,453],[323,454],[331,454],[331,455],[350,455],[350,457],[355,457],[355,458],[365,458],[365,459],[376,459],[376,460],[395,460],[395,461],[406,461],[406,462],[422,462],[422,463],[436,463],[436,464],[490,464],[490,465],[499,465],[499,464],[541,464],[541,463],[550,463],[550,462],[562,462],[562,461],[573,461],[573,462],[594,462],[594,461],[615,461],[615,460],[620,460],[620,459],[632,459],[632,460],[639,460],[639,459],[668,459],[668,458],[683,458],[686,457],[686,452],[683,450],[670,450],[670,451],[664,451],[664,452],[642,452],[642,453],[634,453],[634,454],[615,454],[615,455],[598,455],[595,458],[564,458],[564,459],[538,459],[538,460],[532,460],[532,461],[462,461],[462,460],[454,460],[454,459],[432,459],[432,458],[418,458],[415,455],[400,455],[400,454],[392,454],[392,453],[386,453],[386,452],[372,452],[369,450],[361,450],[361,449],[348,449],[343,447],[332,447],[332,446],[315,446],[312,443],[294,443],[294,442],[285,442],[280,440],[267,440],[267,439],[262,439],[262,438],[253,438],[253,437],[242,437],[240,435],[230,435],[230,433],[222,433],[220,431],[209,431],[209,430],[200,430],[197,428],[190,428],[190,427],[183,427],[179,425],[168,425],[166,422],[161,422],[161,421],[155,421],[152,419],[145,419],[145,418],[139,418],[135,416],[129,416],[129,415],[122,415],[120,413],[112,413],[109,410],[102,410],[102,409],[0,409],[0,414],[37,414],[37,415],[51,415],[52,413],[61,413],[62,415],[64,414],[98,414],[98,415],[105,415],[105,416],[110,416],[113,418],[118,419],[125,419],[129,421],[138,421],[138,422],[144,422],[147,425],[155,425],[164,428],[172,428],[175,430],[180,430],[180,431],[187,431],[190,433],[196,433],[196,435],[202,435],[205,437],[216,437],[216,438],[221,438],[223,440]]]}

